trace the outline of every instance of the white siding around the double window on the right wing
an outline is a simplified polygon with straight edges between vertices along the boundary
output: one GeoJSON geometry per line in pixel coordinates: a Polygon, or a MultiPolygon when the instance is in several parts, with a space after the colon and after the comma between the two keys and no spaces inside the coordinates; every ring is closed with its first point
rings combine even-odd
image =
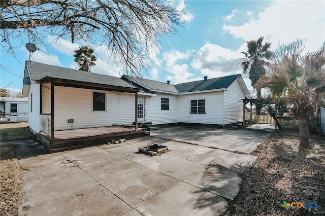
{"type": "Polygon", "coordinates": [[[178,96],[178,122],[223,125],[223,91],[178,96]],[[190,114],[190,100],[205,99],[206,114],[190,114]]]}

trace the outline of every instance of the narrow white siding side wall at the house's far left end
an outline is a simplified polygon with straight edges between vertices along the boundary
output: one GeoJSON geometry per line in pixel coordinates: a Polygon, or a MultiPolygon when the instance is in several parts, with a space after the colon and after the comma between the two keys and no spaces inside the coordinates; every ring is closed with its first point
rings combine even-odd
{"type": "Polygon", "coordinates": [[[35,132],[40,132],[40,84],[30,84],[28,94],[28,126],[35,132]],[[32,94],[32,101],[30,100],[32,94]],[[30,104],[32,103],[32,112],[30,104]]]}

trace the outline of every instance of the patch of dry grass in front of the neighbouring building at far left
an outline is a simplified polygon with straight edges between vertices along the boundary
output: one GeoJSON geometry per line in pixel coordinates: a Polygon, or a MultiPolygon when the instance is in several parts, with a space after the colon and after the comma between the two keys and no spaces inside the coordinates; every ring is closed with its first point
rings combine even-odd
{"type": "Polygon", "coordinates": [[[26,122],[0,124],[0,140],[31,139],[34,136],[26,122]]]}

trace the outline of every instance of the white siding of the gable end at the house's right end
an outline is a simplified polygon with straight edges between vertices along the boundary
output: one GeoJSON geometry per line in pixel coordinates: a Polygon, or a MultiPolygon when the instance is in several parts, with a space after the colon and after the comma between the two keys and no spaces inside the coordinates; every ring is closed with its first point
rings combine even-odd
{"type": "Polygon", "coordinates": [[[238,83],[238,79],[224,91],[224,124],[232,124],[243,121],[244,92],[238,83]]]}

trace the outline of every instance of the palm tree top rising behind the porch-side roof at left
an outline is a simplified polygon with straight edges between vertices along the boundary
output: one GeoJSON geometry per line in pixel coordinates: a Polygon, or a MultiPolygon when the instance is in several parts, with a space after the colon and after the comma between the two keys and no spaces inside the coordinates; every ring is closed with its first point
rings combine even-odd
{"type": "Polygon", "coordinates": [[[79,70],[91,72],[90,67],[96,65],[95,61],[97,59],[96,56],[92,55],[94,50],[87,46],[82,46],[74,52],[75,62],[80,66],[79,70]]]}

